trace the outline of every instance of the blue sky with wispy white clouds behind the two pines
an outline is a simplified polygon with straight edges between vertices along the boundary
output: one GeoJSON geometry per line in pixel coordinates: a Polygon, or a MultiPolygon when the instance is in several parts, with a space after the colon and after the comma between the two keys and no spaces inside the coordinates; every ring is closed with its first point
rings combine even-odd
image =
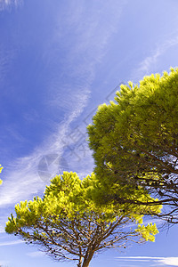
{"type": "MultiPolygon", "coordinates": [[[[177,66],[177,8],[175,0],[0,0],[0,264],[75,265],[54,263],[4,224],[54,174],[93,171],[86,125],[120,83],[177,66]]],[[[91,263],[110,265],[178,266],[177,227],[91,263]]]]}

